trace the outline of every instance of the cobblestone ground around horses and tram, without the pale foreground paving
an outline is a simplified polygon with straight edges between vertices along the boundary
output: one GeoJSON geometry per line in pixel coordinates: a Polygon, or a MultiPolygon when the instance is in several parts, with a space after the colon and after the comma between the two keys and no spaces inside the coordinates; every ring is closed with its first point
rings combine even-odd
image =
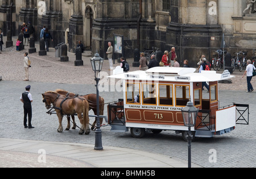
{"type": "MultiPolygon", "coordinates": [[[[27,47],[26,47],[27,48],[27,47]]],[[[39,49],[39,48],[38,48],[39,49]]],[[[44,141],[64,141],[72,143],[94,144],[94,134],[79,135],[79,129],[57,132],[59,126],[56,115],[46,114],[42,102],[42,93],[48,90],[65,89],[79,94],[95,93],[95,81],[89,57],[83,57],[84,66],[74,66],[75,55],[69,53],[69,62],[61,63],[59,58],[50,56],[54,53],[51,48],[49,55],[38,56],[38,53],[29,55],[32,60],[30,81],[24,82],[23,53],[15,52],[14,48],[3,48],[0,54],[0,138],[29,139],[44,141]],[[31,85],[33,130],[23,128],[23,107],[19,101],[20,93],[26,85],[31,85]]],[[[130,63],[131,64],[131,63],[130,63]]],[[[118,65],[118,64],[116,64],[118,65]]],[[[131,67],[131,70],[138,68],[131,67]]],[[[104,63],[102,76],[110,74],[108,61],[104,63]]],[[[219,85],[220,106],[230,105],[233,102],[250,105],[249,125],[237,125],[229,134],[214,136],[213,138],[197,138],[192,143],[192,162],[203,167],[256,167],[256,140],[255,140],[255,92],[246,93],[246,78],[242,72],[235,71],[232,84],[219,85]],[[211,163],[211,151],[216,151],[216,163],[211,163]]],[[[253,85],[255,80],[252,81],[253,85]]],[[[112,89],[110,86],[109,89],[112,89]]],[[[205,91],[206,93],[206,91],[205,91]]],[[[105,102],[112,102],[122,98],[121,91],[100,91],[105,102]]],[[[90,112],[92,114],[92,112],[90,112]]],[[[107,114],[105,106],[105,115],[107,114]]],[[[93,122],[90,118],[90,123],[93,122]]],[[[77,122],[79,120],[77,119],[77,122]]],[[[63,126],[67,122],[63,121],[63,126]]],[[[102,144],[114,147],[140,149],[161,153],[187,160],[187,143],[180,134],[174,131],[163,131],[160,134],[148,133],[143,139],[131,138],[130,132],[110,132],[110,127],[101,127],[102,144]]]]}

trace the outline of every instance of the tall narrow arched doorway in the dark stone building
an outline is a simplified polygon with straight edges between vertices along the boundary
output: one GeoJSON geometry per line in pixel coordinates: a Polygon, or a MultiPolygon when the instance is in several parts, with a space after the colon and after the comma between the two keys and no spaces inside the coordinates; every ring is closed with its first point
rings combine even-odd
{"type": "Polygon", "coordinates": [[[90,6],[85,9],[85,42],[84,46],[86,50],[92,49],[92,24],[93,24],[93,11],[90,6]]]}

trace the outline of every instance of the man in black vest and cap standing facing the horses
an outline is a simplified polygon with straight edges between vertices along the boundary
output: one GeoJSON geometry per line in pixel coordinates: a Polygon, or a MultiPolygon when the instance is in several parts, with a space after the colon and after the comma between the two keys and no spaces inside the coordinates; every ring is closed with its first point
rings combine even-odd
{"type": "Polygon", "coordinates": [[[23,109],[24,109],[24,119],[23,124],[24,128],[34,128],[31,124],[32,119],[32,105],[33,102],[32,95],[30,93],[31,86],[26,86],[26,91],[20,95],[20,101],[23,103],[23,109]],[[27,117],[28,117],[28,126],[27,126],[27,117]]]}

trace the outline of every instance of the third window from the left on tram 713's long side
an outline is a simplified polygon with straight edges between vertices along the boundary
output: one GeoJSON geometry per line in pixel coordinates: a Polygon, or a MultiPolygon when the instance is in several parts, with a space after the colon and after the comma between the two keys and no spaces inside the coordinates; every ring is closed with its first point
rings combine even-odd
{"type": "Polygon", "coordinates": [[[159,105],[173,106],[172,88],[173,85],[159,84],[159,105]]]}

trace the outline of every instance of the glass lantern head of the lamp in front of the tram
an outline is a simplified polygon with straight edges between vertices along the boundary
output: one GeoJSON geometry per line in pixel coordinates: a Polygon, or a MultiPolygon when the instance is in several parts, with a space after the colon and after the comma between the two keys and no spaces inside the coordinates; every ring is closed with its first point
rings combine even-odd
{"type": "Polygon", "coordinates": [[[181,113],[184,120],[184,126],[195,126],[198,109],[193,106],[193,102],[191,102],[191,99],[189,99],[189,102],[187,102],[187,106],[181,109],[181,113]]]}

